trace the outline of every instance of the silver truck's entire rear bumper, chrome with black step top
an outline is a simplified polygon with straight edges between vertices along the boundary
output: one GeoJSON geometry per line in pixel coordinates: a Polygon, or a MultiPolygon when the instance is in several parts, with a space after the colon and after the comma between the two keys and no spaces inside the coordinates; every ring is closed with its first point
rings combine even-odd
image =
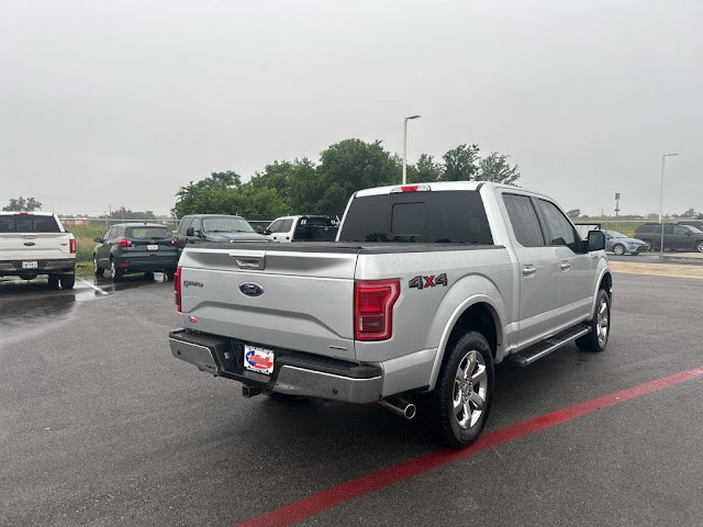
{"type": "Polygon", "coordinates": [[[174,357],[201,371],[264,391],[371,403],[381,399],[383,390],[383,372],[379,366],[275,350],[274,373],[267,375],[244,369],[243,343],[237,340],[176,329],[169,334],[169,344],[174,357]]]}

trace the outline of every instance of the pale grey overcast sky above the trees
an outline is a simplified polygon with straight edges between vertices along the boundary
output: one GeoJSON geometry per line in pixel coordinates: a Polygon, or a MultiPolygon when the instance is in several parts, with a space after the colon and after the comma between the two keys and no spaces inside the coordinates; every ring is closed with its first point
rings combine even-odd
{"type": "Polygon", "coordinates": [[[167,212],[348,137],[509,154],[565,209],[703,211],[703,2],[0,0],[0,205],[167,212]],[[145,8],[144,5],[149,5],[145,8]],[[60,5],[60,7],[59,7],[60,5]]]}

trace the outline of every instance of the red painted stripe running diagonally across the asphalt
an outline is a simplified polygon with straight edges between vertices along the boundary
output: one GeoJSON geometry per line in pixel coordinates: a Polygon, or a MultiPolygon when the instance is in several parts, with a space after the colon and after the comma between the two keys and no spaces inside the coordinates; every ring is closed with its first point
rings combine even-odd
{"type": "Polygon", "coordinates": [[[394,464],[387,469],[381,469],[368,475],[352,480],[341,485],[333,486],[325,491],[304,497],[298,502],[290,503],[281,508],[271,511],[252,518],[238,527],[279,527],[300,522],[313,514],[321,513],[327,508],[348,502],[357,496],[377,491],[399,481],[406,480],[422,472],[450,463],[457,459],[471,456],[488,448],[502,445],[518,437],[533,434],[535,431],[548,428],[550,426],[571,421],[581,415],[590,414],[596,410],[613,406],[641,395],[646,395],[658,390],[678,384],[690,379],[703,375],[703,366],[690,370],[681,371],[672,375],[663,377],[651,382],[646,382],[637,386],[628,388],[620,392],[603,395],[602,397],[592,399],[583,403],[567,406],[549,414],[540,415],[533,419],[517,423],[490,434],[483,434],[478,437],[468,448],[464,450],[443,449],[429,452],[419,458],[410,459],[399,464],[394,464]]]}

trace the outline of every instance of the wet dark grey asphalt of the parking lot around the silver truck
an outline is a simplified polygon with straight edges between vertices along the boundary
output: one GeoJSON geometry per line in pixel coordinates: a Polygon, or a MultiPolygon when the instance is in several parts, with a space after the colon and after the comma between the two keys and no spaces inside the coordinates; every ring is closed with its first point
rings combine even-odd
{"type": "MultiPolygon", "coordinates": [[[[0,525],[264,525],[439,449],[378,405],[243,399],[237,383],[171,357],[170,283],[91,285],[0,283],[0,525]]],[[[700,280],[616,273],[607,349],[499,366],[484,435],[703,366],[701,292],[700,280]]],[[[703,377],[692,378],[299,525],[700,526],[702,407],[703,377]]]]}

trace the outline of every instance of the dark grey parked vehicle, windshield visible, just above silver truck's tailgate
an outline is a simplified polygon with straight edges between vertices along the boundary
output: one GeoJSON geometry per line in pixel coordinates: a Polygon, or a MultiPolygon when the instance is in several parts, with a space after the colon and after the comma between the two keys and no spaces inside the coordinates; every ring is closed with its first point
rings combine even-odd
{"type": "Polygon", "coordinates": [[[227,214],[189,214],[183,216],[177,231],[178,249],[193,242],[266,242],[242,216],[227,214]]]}

